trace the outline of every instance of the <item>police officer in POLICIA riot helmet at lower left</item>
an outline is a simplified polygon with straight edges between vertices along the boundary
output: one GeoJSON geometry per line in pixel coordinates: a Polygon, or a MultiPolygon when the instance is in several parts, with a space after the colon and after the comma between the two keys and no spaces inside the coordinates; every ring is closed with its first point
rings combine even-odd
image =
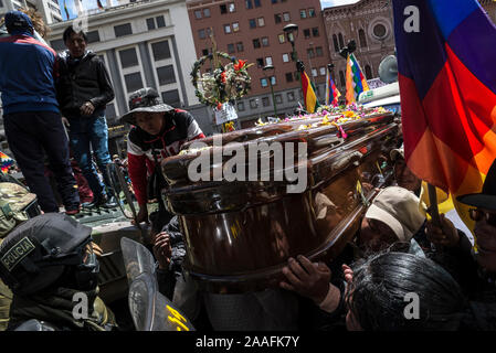
{"type": "Polygon", "coordinates": [[[108,331],[114,314],[97,297],[92,228],[64,214],[43,214],[0,246],[0,278],[13,292],[8,330],[108,331]]]}

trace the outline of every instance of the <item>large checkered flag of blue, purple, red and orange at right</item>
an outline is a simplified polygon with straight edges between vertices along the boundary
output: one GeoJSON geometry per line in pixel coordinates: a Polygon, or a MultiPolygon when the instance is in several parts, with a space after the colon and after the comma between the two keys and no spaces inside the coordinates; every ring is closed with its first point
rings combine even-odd
{"type": "Polygon", "coordinates": [[[405,161],[453,196],[478,193],[496,158],[496,26],[475,0],[393,6],[405,161]]]}

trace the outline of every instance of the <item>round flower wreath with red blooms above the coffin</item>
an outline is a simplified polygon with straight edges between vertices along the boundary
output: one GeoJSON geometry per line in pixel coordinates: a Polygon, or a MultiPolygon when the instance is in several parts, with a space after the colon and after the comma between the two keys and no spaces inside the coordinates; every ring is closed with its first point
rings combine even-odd
{"type": "Polygon", "coordinates": [[[247,68],[252,65],[246,65],[246,61],[236,60],[234,56],[222,52],[202,56],[194,62],[190,74],[194,94],[201,103],[220,109],[222,104],[239,99],[250,92],[252,78],[247,68]],[[220,58],[226,58],[230,62],[222,65],[220,58]],[[217,68],[200,76],[200,68],[207,60],[213,61],[217,68]],[[201,86],[199,83],[201,83],[201,86]]]}

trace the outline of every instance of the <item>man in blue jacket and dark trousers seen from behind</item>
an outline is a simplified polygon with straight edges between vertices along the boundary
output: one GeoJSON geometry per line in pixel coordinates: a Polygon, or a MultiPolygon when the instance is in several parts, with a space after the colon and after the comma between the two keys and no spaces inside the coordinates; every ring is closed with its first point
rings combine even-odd
{"type": "Polygon", "coordinates": [[[9,147],[43,212],[59,212],[44,175],[44,150],[65,211],[76,214],[80,196],[55,95],[56,53],[33,38],[25,13],[8,12],[6,25],[11,36],[0,39],[0,92],[9,147]]]}

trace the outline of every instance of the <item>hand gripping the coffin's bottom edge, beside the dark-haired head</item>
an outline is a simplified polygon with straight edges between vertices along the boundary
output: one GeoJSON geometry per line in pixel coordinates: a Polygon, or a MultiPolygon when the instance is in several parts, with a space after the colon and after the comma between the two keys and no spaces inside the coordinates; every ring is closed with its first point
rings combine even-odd
{"type": "Polygon", "coordinates": [[[287,260],[287,266],[283,268],[286,281],[282,281],[279,286],[310,298],[318,304],[329,291],[330,269],[324,263],[312,263],[302,255],[297,259],[291,257],[287,260]]]}

